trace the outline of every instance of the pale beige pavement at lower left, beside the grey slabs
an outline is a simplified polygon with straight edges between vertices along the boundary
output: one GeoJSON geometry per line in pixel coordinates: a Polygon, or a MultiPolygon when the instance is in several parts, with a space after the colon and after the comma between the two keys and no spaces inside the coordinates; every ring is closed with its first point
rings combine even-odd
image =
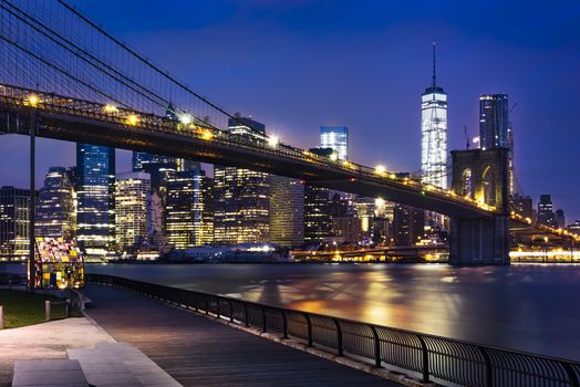
{"type": "Polygon", "coordinates": [[[92,348],[114,339],[84,317],[0,330],[0,386],[10,386],[17,359],[64,359],[66,348],[92,348]]]}

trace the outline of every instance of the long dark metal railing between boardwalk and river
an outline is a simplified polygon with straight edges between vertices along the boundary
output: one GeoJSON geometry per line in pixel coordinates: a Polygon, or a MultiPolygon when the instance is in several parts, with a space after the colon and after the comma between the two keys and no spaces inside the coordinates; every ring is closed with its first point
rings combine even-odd
{"type": "Polygon", "coordinates": [[[580,363],[375,324],[276,307],[113,275],[86,274],[113,285],[309,346],[386,366],[448,386],[579,387],[580,363]]]}

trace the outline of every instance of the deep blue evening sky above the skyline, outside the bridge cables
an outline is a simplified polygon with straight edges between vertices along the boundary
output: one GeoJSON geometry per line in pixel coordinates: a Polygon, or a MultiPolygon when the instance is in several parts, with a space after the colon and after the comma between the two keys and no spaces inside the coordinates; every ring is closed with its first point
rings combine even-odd
{"type": "MultiPolygon", "coordinates": [[[[572,108],[580,86],[578,6],[301,1],[280,9],[262,1],[169,1],[151,12],[127,1],[111,14],[108,0],[74,3],[194,90],[263,122],[282,142],[308,148],[318,145],[319,126],[344,125],[351,159],[392,170],[420,170],[421,93],[431,83],[436,41],[438,84],[449,97],[449,150],[465,148],[464,125],[470,137],[478,135],[479,94],[508,94],[510,105],[518,103],[510,119],[524,194],[535,202],[550,194],[568,222],[580,218],[572,108]],[[517,25],[510,9],[518,11],[517,25]]],[[[28,153],[17,146],[27,140],[3,138],[0,185],[28,187],[28,153]]],[[[118,153],[117,172],[131,169],[130,159],[118,153]]],[[[74,144],[39,140],[38,184],[49,167],[74,164],[74,144]]]]}

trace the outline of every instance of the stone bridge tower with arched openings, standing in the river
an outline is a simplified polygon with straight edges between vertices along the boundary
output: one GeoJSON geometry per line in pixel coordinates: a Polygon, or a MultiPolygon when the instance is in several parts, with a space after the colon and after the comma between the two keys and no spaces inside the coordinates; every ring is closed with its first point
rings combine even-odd
{"type": "Polygon", "coordinates": [[[495,207],[491,217],[450,219],[449,263],[509,264],[508,149],[453,150],[453,191],[495,207]]]}

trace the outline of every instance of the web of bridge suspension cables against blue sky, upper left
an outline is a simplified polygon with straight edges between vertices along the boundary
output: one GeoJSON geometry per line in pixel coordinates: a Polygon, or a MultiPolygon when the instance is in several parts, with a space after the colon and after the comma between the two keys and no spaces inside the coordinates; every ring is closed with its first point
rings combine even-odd
{"type": "Polygon", "coordinates": [[[238,119],[63,0],[0,0],[0,20],[4,84],[156,115],[172,106],[177,116],[219,129],[238,119]]]}

